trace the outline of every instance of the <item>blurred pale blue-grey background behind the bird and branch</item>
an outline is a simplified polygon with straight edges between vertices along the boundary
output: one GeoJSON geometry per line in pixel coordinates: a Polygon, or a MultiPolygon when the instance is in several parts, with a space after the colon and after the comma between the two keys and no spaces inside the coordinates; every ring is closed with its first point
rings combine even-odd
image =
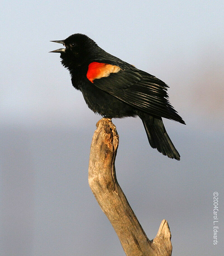
{"type": "Polygon", "coordinates": [[[88,187],[101,117],[72,87],[60,54],[48,53],[59,48],[50,40],[78,32],[166,82],[187,124],[164,120],[178,162],[148,145],[139,118],[113,120],[118,182],[148,238],[165,218],[173,256],[223,255],[222,1],[3,2],[0,255],[125,255],[88,187]]]}

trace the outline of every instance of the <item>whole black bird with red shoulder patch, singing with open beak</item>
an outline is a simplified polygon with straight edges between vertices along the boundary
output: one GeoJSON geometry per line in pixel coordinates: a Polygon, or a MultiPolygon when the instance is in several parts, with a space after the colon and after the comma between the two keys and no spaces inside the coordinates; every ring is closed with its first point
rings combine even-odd
{"type": "Polygon", "coordinates": [[[65,46],[52,52],[61,54],[74,88],[92,111],[109,118],[139,116],[151,147],[180,160],[162,122],[165,117],[185,124],[169,103],[168,85],[105,52],[83,34],[52,42],[65,46]]]}

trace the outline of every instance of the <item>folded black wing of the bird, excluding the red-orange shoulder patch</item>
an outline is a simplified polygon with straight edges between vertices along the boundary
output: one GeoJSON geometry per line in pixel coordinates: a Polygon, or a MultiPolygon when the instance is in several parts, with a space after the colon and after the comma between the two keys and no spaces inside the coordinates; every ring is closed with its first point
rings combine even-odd
{"type": "Polygon", "coordinates": [[[145,113],[185,124],[169,103],[168,85],[155,76],[141,71],[114,56],[112,57],[114,60],[94,60],[121,68],[118,73],[111,73],[108,77],[95,79],[94,85],[96,87],[145,113]]]}

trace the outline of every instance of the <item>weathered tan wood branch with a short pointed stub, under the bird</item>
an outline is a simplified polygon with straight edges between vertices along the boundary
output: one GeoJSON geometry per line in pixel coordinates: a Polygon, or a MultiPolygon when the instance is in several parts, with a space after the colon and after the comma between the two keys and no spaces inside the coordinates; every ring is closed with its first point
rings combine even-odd
{"type": "Polygon", "coordinates": [[[118,138],[110,119],[102,118],[97,122],[90,149],[90,188],[115,229],[126,255],[170,256],[171,233],[167,221],[162,220],[157,236],[150,241],[117,182],[115,157],[118,138]]]}

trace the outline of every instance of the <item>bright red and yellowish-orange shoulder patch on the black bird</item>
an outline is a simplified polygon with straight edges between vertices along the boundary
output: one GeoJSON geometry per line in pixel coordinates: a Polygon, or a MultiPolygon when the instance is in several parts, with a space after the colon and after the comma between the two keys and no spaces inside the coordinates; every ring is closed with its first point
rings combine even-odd
{"type": "Polygon", "coordinates": [[[111,73],[117,73],[121,70],[118,66],[106,63],[91,62],[88,66],[86,77],[93,83],[95,79],[108,77],[111,73]]]}

